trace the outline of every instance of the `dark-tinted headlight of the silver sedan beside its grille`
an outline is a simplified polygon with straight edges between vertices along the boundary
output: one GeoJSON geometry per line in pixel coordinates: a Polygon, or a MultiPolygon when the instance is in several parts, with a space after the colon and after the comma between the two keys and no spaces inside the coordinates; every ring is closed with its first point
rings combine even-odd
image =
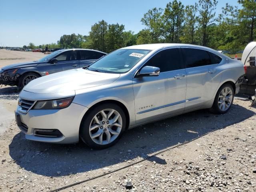
{"type": "Polygon", "coordinates": [[[33,109],[63,109],[70,106],[74,97],[56,100],[37,101],[33,109]]]}

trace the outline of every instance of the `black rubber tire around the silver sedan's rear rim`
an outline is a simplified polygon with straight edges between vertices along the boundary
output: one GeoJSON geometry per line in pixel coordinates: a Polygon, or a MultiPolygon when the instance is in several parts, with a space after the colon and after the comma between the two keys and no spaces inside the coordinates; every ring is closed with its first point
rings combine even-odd
{"type": "Polygon", "coordinates": [[[210,111],[211,111],[212,113],[215,113],[215,114],[224,114],[224,113],[226,113],[226,112],[228,112],[228,111],[230,110],[230,108],[231,108],[231,106],[232,106],[232,104],[233,104],[233,100],[234,100],[234,88],[233,88],[233,86],[232,86],[231,84],[223,84],[223,85],[219,88],[219,90],[218,90],[218,92],[217,92],[217,94],[216,94],[216,96],[215,96],[215,98],[214,98],[214,102],[213,102],[212,108],[210,108],[210,111]],[[219,108],[219,106],[218,106],[219,96],[220,96],[220,92],[221,92],[224,88],[230,88],[230,89],[232,90],[232,102],[231,102],[231,104],[230,104],[230,106],[229,106],[228,109],[226,109],[226,110],[220,110],[220,108],[219,108]]]}

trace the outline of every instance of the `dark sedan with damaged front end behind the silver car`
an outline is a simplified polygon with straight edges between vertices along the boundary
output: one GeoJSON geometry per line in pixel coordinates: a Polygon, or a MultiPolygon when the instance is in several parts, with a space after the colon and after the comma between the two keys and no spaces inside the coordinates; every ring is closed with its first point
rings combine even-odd
{"type": "Polygon", "coordinates": [[[89,49],[57,50],[38,61],[12,64],[0,70],[0,84],[23,88],[30,81],[56,72],[82,68],[106,53],[89,49]]]}

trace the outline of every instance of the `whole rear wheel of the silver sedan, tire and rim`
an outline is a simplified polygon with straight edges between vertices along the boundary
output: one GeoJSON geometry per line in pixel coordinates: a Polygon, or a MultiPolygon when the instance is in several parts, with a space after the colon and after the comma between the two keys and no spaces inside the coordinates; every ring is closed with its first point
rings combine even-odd
{"type": "Polygon", "coordinates": [[[230,110],[234,100],[234,88],[230,84],[224,84],[218,90],[211,111],[224,114],[230,110]]]}

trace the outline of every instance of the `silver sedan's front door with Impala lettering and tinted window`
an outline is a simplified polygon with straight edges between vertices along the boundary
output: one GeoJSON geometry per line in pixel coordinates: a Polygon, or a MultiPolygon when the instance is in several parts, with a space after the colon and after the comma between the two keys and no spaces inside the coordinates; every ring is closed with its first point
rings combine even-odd
{"type": "Polygon", "coordinates": [[[186,70],[180,48],[162,50],[144,66],[158,67],[160,74],[133,79],[136,124],[182,112],[186,102],[186,70]]]}

